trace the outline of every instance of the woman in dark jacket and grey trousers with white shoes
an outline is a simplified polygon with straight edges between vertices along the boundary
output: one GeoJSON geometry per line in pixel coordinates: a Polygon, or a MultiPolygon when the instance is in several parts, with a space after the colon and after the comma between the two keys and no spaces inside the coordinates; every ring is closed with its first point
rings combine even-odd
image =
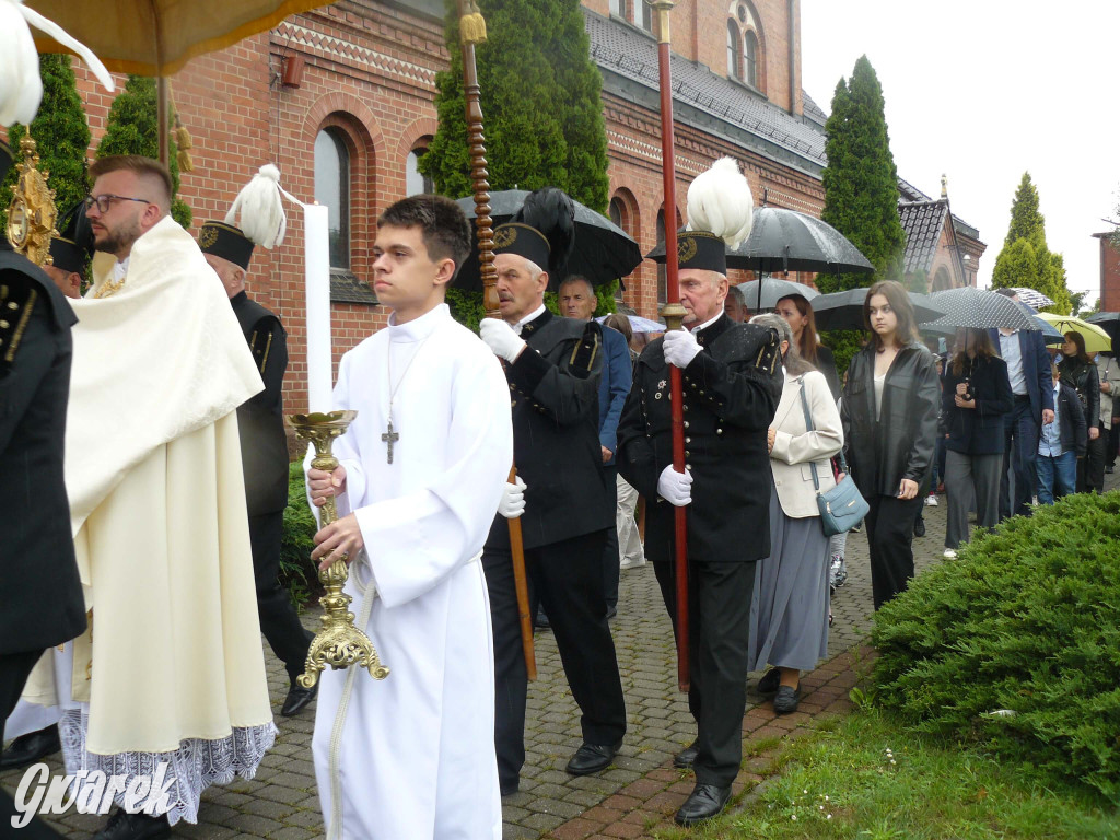
{"type": "Polygon", "coordinates": [[[996,355],[988,330],[956,330],[956,355],[945,372],[941,404],[946,430],[949,505],[945,557],[952,559],[969,539],[969,505],[973,498],[978,526],[992,529],[999,523],[1004,424],[1015,400],[1007,362],[996,355]]]}

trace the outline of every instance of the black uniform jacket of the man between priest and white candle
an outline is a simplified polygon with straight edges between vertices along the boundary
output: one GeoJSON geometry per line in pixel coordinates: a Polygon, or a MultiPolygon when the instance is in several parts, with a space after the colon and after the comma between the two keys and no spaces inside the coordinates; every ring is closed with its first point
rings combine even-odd
{"type": "Polygon", "coordinates": [[[288,342],[280,319],[245,292],[235,295],[230,302],[264,382],[264,390],[237,409],[249,515],[259,516],[288,506],[282,394],[288,342]]]}

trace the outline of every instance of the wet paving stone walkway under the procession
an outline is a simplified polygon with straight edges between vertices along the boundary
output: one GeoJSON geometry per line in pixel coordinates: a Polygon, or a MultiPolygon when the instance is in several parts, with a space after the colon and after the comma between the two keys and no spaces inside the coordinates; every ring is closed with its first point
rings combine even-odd
{"type": "MultiPolygon", "coordinates": [[[[914,541],[918,570],[940,561],[945,505],[926,507],[925,520],[927,535],[914,541]]],[[[748,694],[743,722],[745,759],[735,784],[737,796],[762,780],[771,762],[768,753],[781,739],[809,731],[818,719],[850,708],[848,691],[870,656],[864,645],[871,623],[865,534],[849,536],[847,559],[848,582],[833,600],[836,620],[829,659],[803,676],[800,710],[777,717],[767,701],[753,691],[748,694]]],[[[305,623],[316,625],[317,615],[317,607],[310,609],[305,623]]],[[[528,756],[521,790],[503,800],[506,840],[652,837],[660,827],[671,824],[673,812],[692,790],[691,773],[672,767],[673,754],[691,743],[696,731],[687,699],[676,691],[672,632],[651,566],[622,573],[618,617],[612,627],[623,671],[629,731],[609,769],[580,778],[563,771],[580,744],[579,710],[568,690],[552,635],[536,634],[540,679],[530,685],[528,756]]],[[[175,837],[307,840],[323,836],[310,749],[314,707],[295,719],[280,717],[287,678],[267,645],[265,655],[280,729],[276,747],[254,780],[239,778],[209,788],[203,795],[198,824],[180,822],[175,837]]],[[[752,675],[752,687],[758,675],[752,675]]],[[[53,774],[63,773],[57,759],[48,764],[53,774]]],[[[15,791],[20,775],[20,771],[0,774],[0,784],[15,791]]],[[[91,837],[103,820],[76,813],[52,818],[59,831],[76,839],[91,837]]]]}

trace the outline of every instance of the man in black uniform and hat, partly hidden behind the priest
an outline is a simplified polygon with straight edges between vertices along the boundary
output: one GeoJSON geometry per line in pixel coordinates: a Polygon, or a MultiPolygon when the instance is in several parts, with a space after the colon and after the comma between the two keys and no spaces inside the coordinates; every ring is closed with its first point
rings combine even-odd
{"type": "Polygon", "coordinates": [[[253,353],[264,390],[237,409],[241,460],[249,505],[249,536],[253,544],[253,576],[261,632],[284,664],[290,680],[280,713],[291,717],[318,691],[296,682],[304,673],[311,634],[299,623],[288,592],[280,586],[280,542],[288,505],[288,438],[283,429],[283,374],[288,370],[288,342],[280,319],[249,297],[245,274],[253,241],[241,228],[207,222],[198,232],[198,246],[230,296],[233,312],[253,353]]]}

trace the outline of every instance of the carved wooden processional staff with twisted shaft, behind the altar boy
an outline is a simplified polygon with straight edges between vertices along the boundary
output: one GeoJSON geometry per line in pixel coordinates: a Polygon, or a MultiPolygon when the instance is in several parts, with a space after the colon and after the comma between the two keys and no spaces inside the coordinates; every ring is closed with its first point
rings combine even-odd
{"type": "MultiPolygon", "coordinates": [[[[475,45],[486,41],[486,20],[476,0],[458,0],[459,44],[463,49],[463,87],[466,97],[467,142],[470,144],[470,179],[475,186],[475,228],[478,237],[478,265],[483,280],[483,307],[487,318],[501,318],[497,299],[497,270],[494,268],[494,220],[491,218],[489,172],[486,171],[486,146],[483,134],[483,109],[479,102],[478,68],[475,45]]],[[[675,253],[675,250],[674,250],[675,253]]],[[[683,310],[682,310],[683,311],[683,310]]],[[[683,444],[682,444],[683,446],[683,444]]],[[[683,449],[681,450],[683,456],[683,449]]],[[[516,466],[510,469],[510,482],[516,478],[516,466]]],[[[513,580],[517,594],[517,617],[521,624],[521,650],[530,680],[536,679],[533,653],[533,620],[529,615],[529,585],[525,580],[525,552],[521,540],[521,520],[511,519],[510,553],[513,557],[513,580]]]]}

